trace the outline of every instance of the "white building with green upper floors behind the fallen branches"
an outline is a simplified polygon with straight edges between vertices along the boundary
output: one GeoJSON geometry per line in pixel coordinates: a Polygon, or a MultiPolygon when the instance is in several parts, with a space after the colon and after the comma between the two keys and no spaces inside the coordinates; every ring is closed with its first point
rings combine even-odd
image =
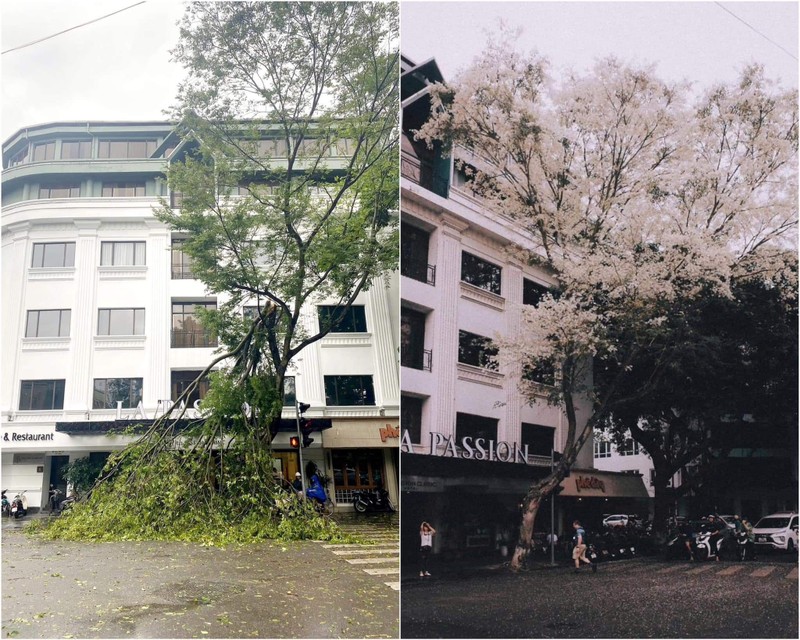
{"type": "MultiPolygon", "coordinates": [[[[33,507],[50,483],[64,486],[67,462],[124,447],[109,429],[152,420],[215,352],[195,309],[219,301],[192,277],[180,235],[153,216],[179,152],[164,122],[45,124],[3,145],[2,487],[26,491],[33,507]]],[[[334,479],[338,505],[377,484],[397,498],[397,299],[396,275],[376,283],[354,322],[289,372],[306,416],[330,421],[303,454],[334,479]],[[342,391],[354,384],[359,404],[342,391]]],[[[305,321],[316,329],[317,308],[305,321]]],[[[291,479],[288,437],[278,434],[275,456],[291,479]]]]}

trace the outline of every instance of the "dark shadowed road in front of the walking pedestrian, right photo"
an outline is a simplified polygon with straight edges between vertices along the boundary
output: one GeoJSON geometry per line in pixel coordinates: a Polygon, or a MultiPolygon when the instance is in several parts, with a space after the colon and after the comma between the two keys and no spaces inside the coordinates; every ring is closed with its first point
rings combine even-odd
{"type": "Polygon", "coordinates": [[[797,638],[795,562],[601,564],[403,581],[403,638],[797,638]]]}

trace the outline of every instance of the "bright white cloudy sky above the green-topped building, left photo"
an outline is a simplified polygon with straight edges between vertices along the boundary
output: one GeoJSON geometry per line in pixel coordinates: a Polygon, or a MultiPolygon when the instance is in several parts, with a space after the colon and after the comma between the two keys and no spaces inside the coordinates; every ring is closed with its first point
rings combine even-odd
{"type": "MultiPolygon", "coordinates": [[[[2,0],[2,51],[139,0],[2,0]]],[[[150,0],[94,24],[2,55],[2,139],[44,122],[164,120],[182,68],[169,62],[183,14],[150,0]]]]}

